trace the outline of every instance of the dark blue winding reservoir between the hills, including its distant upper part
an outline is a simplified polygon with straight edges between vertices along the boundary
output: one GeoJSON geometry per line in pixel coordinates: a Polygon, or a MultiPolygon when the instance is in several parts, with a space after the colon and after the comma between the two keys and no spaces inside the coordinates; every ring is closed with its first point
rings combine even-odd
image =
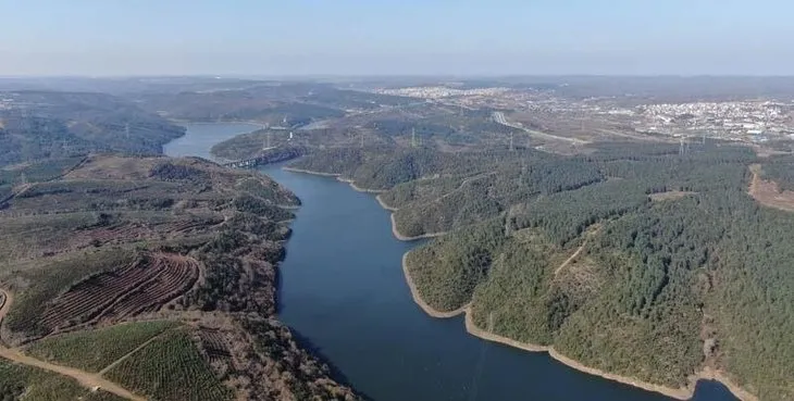
{"type": "MultiPolygon", "coordinates": [[[[169,155],[208,158],[212,145],[256,129],[188,126],[169,155]]],[[[401,256],[420,242],[394,238],[373,195],[333,178],[261,170],[301,200],[280,266],[278,317],[375,401],[656,401],[669,398],[570,368],[545,353],[487,342],[462,316],[437,319],[411,299],[401,256]]],[[[693,400],[733,401],[702,380],[693,400]]]]}

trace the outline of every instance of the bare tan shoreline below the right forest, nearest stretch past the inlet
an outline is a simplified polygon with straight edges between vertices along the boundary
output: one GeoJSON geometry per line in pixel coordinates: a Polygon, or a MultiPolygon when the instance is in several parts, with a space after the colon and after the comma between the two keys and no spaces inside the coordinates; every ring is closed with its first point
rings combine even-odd
{"type": "Polygon", "coordinates": [[[548,346],[538,346],[533,344],[529,342],[521,342],[518,340],[513,340],[508,337],[499,336],[494,333],[486,331],[480,327],[477,327],[474,324],[474,321],[471,316],[471,303],[468,303],[459,309],[456,309],[455,311],[449,312],[442,312],[438,310],[435,310],[433,306],[429,305],[419,293],[419,289],[417,288],[415,284],[413,283],[413,278],[410,275],[410,272],[408,270],[408,263],[407,258],[408,253],[411,251],[408,251],[402,254],[402,273],[406,276],[406,283],[408,284],[408,288],[411,290],[411,298],[413,298],[413,301],[419,305],[419,308],[424,311],[427,315],[435,318],[450,318],[458,316],[460,314],[464,315],[464,325],[466,325],[466,331],[474,337],[477,337],[485,341],[491,342],[497,342],[504,346],[509,346],[513,348],[518,348],[520,350],[529,351],[529,352],[546,352],[553,360],[568,366],[571,368],[574,368],[576,371],[586,373],[588,375],[598,376],[600,378],[605,378],[607,380],[617,381],[623,385],[629,385],[632,387],[636,387],[646,391],[653,391],[660,393],[662,396],[667,396],[670,398],[674,398],[678,400],[690,400],[695,394],[695,385],[698,380],[717,380],[723,386],[725,386],[731,393],[739,398],[742,401],[759,401],[758,398],[746,390],[744,390],[742,387],[735,385],[732,383],[728,377],[724,376],[724,374],[720,372],[716,372],[710,367],[704,367],[703,371],[694,374],[690,377],[690,384],[685,387],[681,388],[672,388],[672,387],[666,387],[661,385],[655,385],[646,381],[642,381],[632,377],[628,376],[621,376],[617,374],[612,374],[609,372],[605,372],[595,367],[586,366],[582,364],[579,361],[575,361],[571,358],[568,358],[561,353],[559,353],[557,350],[554,349],[554,347],[548,346]]]}

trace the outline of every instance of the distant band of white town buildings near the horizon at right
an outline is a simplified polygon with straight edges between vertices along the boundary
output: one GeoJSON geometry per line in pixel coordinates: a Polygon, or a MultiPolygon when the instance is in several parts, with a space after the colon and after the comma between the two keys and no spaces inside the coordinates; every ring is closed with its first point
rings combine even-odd
{"type": "Polygon", "coordinates": [[[508,120],[563,136],[593,133],[705,136],[746,142],[794,139],[794,101],[762,99],[626,105],[618,97],[570,99],[557,96],[554,90],[506,87],[424,86],[377,89],[375,92],[467,109],[503,110],[508,120]]]}

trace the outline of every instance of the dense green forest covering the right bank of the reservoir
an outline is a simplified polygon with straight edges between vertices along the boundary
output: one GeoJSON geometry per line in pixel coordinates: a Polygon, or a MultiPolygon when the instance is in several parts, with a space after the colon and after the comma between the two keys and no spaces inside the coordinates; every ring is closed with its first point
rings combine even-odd
{"type": "Polygon", "coordinates": [[[794,397],[794,214],[747,193],[791,158],[707,143],[601,143],[584,155],[332,149],[295,163],[384,190],[422,298],[482,328],[671,387],[704,366],[794,397]],[[569,260],[570,258],[570,260],[569,260]],[[762,361],[762,362],[760,362],[762,361]]]}

